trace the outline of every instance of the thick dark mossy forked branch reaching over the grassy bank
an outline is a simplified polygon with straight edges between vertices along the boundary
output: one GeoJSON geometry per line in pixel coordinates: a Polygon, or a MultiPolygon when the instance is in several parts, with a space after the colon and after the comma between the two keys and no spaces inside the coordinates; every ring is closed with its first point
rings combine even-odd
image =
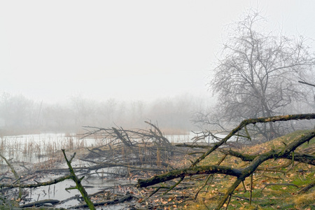
{"type": "MultiPolygon", "coordinates": [[[[288,145],[285,145],[282,149],[279,148],[278,150],[270,150],[268,152],[259,154],[259,155],[244,155],[241,153],[237,153],[235,151],[226,151],[225,154],[230,154],[230,155],[235,155],[238,158],[241,158],[242,160],[250,162],[250,164],[245,167],[244,169],[235,169],[232,167],[220,167],[216,165],[211,165],[211,166],[200,166],[197,167],[196,165],[201,161],[204,160],[204,158],[207,157],[210,153],[215,151],[217,148],[222,146],[223,144],[230,139],[233,135],[237,134],[239,130],[241,130],[243,127],[246,127],[246,125],[253,124],[255,123],[272,123],[276,121],[286,121],[286,120],[303,120],[303,119],[314,119],[315,114],[300,114],[300,115],[288,115],[288,116],[274,116],[274,117],[267,117],[267,118],[255,118],[255,119],[248,119],[248,120],[243,120],[238,127],[236,127],[230,134],[228,134],[227,137],[219,141],[218,143],[214,144],[209,151],[204,153],[203,155],[200,156],[200,158],[197,158],[193,164],[186,168],[186,169],[177,169],[172,172],[168,172],[166,174],[158,175],[158,176],[153,176],[151,179],[139,179],[137,187],[148,187],[155,185],[157,183],[162,183],[165,181],[169,181],[172,179],[177,179],[181,178],[183,179],[185,176],[193,176],[195,174],[227,174],[230,176],[236,176],[237,180],[230,186],[228,189],[227,193],[223,196],[221,199],[221,202],[218,204],[216,209],[221,209],[223,207],[223,204],[228,200],[228,198],[232,195],[234,190],[239,186],[240,183],[242,183],[246,177],[251,176],[253,172],[255,172],[258,167],[265,162],[266,160],[270,159],[279,159],[279,158],[286,158],[286,159],[293,159],[293,152],[295,149],[304,144],[305,142],[310,141],[315,137],[315,130],[307,132],[306,134],[301,135],[299,138],[295,139],[295,141],[291,142],[288,145]]],[[[294,160],[295,161],[300,161],[300,162],[305,162],[307,164],[314,164],[314,156],[312,155],[306,155],[306,154],[299,154],[295,153],[294,154],[294,160]]],[[[251,183],[252,184],[252,183],[251,183]]]]}

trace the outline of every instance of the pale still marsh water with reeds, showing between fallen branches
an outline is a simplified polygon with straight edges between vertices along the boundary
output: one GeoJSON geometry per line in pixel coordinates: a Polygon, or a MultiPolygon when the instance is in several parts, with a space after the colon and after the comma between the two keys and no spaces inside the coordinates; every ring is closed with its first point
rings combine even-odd
{"type": "MultiPolygon", "coordinates": [[[[185,135],[167,135],[165,136],[172,143],[182,143],[192,141],[195,137],[194,133],[185,135]]],[[[66,162],[62,160],[60,151],[64,148],[66,151],[83,151],[86,148],[102,146],[106,144],[104,139],[97,139],[93,137],[81,138],[75,134],[59,134],[59,133],[41,133],[41,134],[31,134],[31,135],[18,135],[18,136],[5,136],[0,139],[0,153],[3,157],[14,163],[15,166],[25,166],[25,165],[58,165],[59,168],[66,169],[66,162]],[[59,161],[54,160],[56,156],[59,155],[59,161]],[[50,161],[48,163],[48,161],[50,161]]],[[[206,142],[206,140],[204,141],[206,142]]],[[[73,167],[83,167],[86,163],[75,159],[72,162],[73,167]]],[[[0,159],[0,169],[4,171],[9,171],[6,166],[6,162],[0,159]]],[[[90,165],[90,164],[89,164],[90,165]]],[[[22,169],[22,168],[21,168],[22,169]]],[[[111,176],[111,173],[117,172],[119,168],[105,168],[103,169],[103,176],[100,177],[99,173],[94,175],[89,175],[83,179],[82,184],[85,186],[87,193],[93,194],[99,191],[116,190],[115,193],[124,194],[123,188],[120,186],[132,186],[136,183],[135,180],[131,179],[121,179],[115,176],[111,176]],[[121,190],[121,192],[120,192],[121,190]]],[[[19,170],[17,170],[19,171],[19,170]]],[[[2,174],[2,172],[0,173],[2,174]]],[[[41,176],[36,178],[36,181],[50,181],[56,179],[60,174],[45,174],[46,176],[41,176]]],[[[40,200],[60,200],[63,201],[61,204],[57,204],[55,207],[70,208],[80,204],[79,200],[76,199],[80,193],[78,190],[69,190],[75,186],[72,180],[65,180],[60,183],[56,183],[51,186],[42,186],[39,188],[27,189],[27,196],[25,201],[34,202],[40,200]]],[[[26,202],[26,203],[27,203],[26,202]]],[[[106,209],[124,209],[127,204],[113,204],[106,207],[106,209]]],[[[104,207],[102,207],[104,209],[104,207]]]]}

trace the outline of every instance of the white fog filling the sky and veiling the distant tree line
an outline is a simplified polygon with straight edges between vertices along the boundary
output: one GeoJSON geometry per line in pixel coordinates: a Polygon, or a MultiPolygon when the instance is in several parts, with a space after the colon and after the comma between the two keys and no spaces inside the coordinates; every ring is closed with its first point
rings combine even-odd
{"type": "Polygon", "coordinates": [[[0,1],[0,128],[191,130],[192,113],[214,102],[206,84],[225,27],[258,8],[270,27],[314,38],[314,4],[0,1]]]}

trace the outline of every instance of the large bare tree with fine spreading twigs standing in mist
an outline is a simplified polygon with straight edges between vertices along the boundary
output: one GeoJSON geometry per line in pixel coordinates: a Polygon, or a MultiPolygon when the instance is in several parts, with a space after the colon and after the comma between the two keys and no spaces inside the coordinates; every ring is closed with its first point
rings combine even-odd
{"type": "MultiPolygon", "coordinates": [[[[304,97],[297,78],[314,66],[307,38],[263,33],[263,22],[259,13],[250,12],[233,25],[209,83],[228,122],[283,114],[288,104],[304,97]]],[[[279,132],[272,123],[256,129],[267,139],[279,132]]]]}

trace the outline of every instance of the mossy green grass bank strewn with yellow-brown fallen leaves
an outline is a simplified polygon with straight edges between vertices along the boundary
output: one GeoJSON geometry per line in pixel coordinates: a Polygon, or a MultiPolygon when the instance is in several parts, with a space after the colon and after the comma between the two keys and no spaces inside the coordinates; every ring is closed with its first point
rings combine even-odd
{"type": "MultiPolygon", "coordinates": [[[[280,150],[307,132],[309,131],[299,130],[264,144],[244,146],[244,148],[238,151],[248,155],[259,155],[272,149],[280,150]]],[[[296,151],[314,155],[315,139],[311,139],[308,144],[303,144],[296,151]]],[[[216,165],[222,157],[223,153],[215,151],[202,160],[200,165],[216,165]]],[[[239,158],[228,155],[221,165],[244,168],[248,165],[248,162],[243,162],[239,158]]],[[[244,181],[246,192],[241,183],[235,190],[234,196],[231,197],[228,209],[315,209],[314,188],[303,195],[297,195],[297,191],[300,188],[307,186],[307,184],[315,179],[314,166],[299,162],[294,162],[293,166],[292,160],[280,159],[267,160],[259,168],[260,170],[256,170],[253,175],[251,205],[249,204],[251,179],[248,177],[244,181]],[[272,184],[275,185],[273,186],[272,184]],[[286,184],[293,184],[295,186],[288,186],[286,184]]],[[[235,177],[232,176],[214,175],[213,181],[201,190],[197,201],[190,202],[183,209],[187,209],[188,207],[188,209],[214,209],[223,196],[223,193],[228,190],[235,180],[235,177]]],[[[196,185],[195,190],[197,191],[203,184],[204,180],[200,181],[196,185]]]]}

